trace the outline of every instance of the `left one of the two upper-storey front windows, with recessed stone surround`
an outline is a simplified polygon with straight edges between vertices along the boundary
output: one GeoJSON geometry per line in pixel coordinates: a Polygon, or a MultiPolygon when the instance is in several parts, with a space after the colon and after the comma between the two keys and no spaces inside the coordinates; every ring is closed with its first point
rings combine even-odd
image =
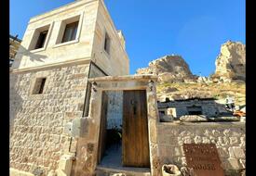
{"type": "Polygon", "coordinates": [[[29,50],[44,48],[47,42],[48,31],[49,25],[36,29],[29,50]]]}

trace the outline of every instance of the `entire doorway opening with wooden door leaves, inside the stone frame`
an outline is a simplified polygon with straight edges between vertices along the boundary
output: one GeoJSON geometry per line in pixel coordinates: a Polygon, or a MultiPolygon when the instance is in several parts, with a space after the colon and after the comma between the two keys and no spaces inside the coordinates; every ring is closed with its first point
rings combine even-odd
{"type": "Polygon", "coordinates": [[[98,163],[149,168],[146,91],[103,91],[98,163]]]}

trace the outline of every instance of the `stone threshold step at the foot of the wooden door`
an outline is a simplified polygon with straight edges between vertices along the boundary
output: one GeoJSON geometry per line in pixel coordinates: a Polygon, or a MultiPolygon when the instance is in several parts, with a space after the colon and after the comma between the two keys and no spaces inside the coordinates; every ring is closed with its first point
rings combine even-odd
{"type": "Polygon", "coordinates": [[[96,176],[150,176],[150,169],[147,168],[107,168],[97,167],[96,176]]]}

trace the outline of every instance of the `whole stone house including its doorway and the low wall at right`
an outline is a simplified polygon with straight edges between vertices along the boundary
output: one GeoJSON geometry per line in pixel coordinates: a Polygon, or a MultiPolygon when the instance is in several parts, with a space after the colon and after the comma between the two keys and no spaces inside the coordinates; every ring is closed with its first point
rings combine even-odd
{"type": "Polygon", "coordinates": [[[128,75],[125,44],[102,0],[30,19],[10,71],[10,175],[160,176],[187,165],[184,144],[245,170],[244,122],[161,122],[157,77],[128,75]]]}

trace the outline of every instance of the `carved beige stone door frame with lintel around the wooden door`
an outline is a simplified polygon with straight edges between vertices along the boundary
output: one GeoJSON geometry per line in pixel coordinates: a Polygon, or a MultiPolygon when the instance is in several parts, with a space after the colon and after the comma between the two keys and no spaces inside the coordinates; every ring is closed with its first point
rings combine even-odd
{"type": "Polygon", "coordinates": [[[157,176],[161,173],[157,145],[157,123],[159,123],[159,116],[155,94],[156,81],[157,77],[154,75],[130,75],[89,79],[89,82],[92,83],[92,88],[88,114],[88,117],[91,120],[91,122],[88,123],[88,126],[91,130],[88,132],[88,140],[90,143],[95,144],[95,149],[91,154],[94,156],[91,165],[94,169],[92,170],[97,168],[102,91],[146,90],[151,175],[157,176]]]}

